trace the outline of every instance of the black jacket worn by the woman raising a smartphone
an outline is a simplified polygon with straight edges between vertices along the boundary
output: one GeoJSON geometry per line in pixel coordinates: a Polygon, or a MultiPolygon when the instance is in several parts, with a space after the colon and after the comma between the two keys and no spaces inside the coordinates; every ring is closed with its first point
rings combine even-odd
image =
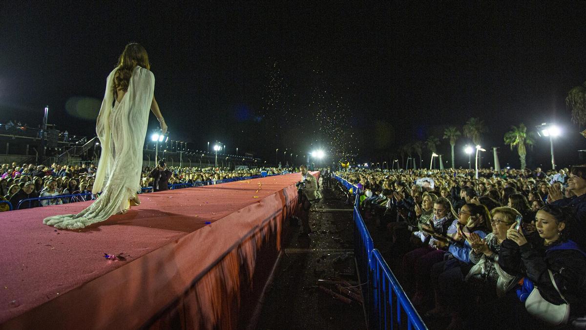
{"type": "Polygon", "coordinates": [[[551,283],[547,271],[551,270],[558,289],[571,305],[572,314],[582,313],[586,302],[586,255],[580,250],[565,249],[568,244],[575,243],[568,241],[544,247],[543,239],[538,237],[533,243],[519,247],[507,239],[500,245],[499,265],[509,274],[523,275],[532,280],[547,301],[563,304],[563,299],[551,283]]]}

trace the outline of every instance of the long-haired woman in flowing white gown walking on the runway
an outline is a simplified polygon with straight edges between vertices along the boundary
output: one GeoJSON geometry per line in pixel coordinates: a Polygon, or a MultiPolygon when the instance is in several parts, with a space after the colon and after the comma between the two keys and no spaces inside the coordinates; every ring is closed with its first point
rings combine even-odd
{"type": "Polygon", "coordinates": [[[54,215],[43,223],[56,228],[84,228],[140,204],[137,191],[149,109],[159,120],[162,133],[167,130],[154,97],[155,77],[149,69],[147,51],[138,43],[128,44],[118,66],[108,75],[96,120],[102,153],[92,192],[102,193],[80,213],[54,215]]]}

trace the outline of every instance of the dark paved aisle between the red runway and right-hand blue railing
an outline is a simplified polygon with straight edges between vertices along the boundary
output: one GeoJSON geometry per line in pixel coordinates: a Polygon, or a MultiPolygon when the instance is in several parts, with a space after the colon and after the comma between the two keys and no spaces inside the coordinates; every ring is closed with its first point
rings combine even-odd
{"type": "MultiPolygon", "coordinates": [[[[364,329],[362,305],[332,298],[318,280],[343,278],[357,284],[353,253],[352,206],[340,189],[322,189],[312,207],[309,236],[292,227],[284,254],[267,289],[257,329],[364,329]]],[[[324,287],[338,292],[331,284],[324,287]]]]}

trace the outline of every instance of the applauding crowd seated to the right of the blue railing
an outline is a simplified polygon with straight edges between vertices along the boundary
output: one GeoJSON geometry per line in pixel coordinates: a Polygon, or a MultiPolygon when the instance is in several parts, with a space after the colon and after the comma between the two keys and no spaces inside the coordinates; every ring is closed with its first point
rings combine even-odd
{"type": "Polygon", "coordinates": [[[337,174],[360,189],[425,322],[537,329],[569,315],[584,328],[586,166],[337,174]]]}

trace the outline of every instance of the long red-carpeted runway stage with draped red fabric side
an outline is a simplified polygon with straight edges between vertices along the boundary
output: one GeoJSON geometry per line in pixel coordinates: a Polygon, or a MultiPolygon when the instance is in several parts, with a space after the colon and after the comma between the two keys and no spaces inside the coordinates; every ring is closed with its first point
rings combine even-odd
{"type": "Polygon", "coordinates": [[[0,213],[0,328],[242,326],[242,292],[260,289],[261,256],[280,250],[299,179],[142,194],[127,214],[76,231],[42,220],[90,202],[0,213]]]}

